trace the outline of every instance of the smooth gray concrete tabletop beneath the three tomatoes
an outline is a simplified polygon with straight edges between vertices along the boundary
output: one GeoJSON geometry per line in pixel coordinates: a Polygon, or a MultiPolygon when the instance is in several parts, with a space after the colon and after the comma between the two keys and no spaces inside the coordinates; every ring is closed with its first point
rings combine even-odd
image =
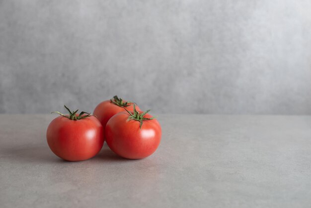
{"type": "Polygon", "coordinates": [[[158,115],[156,153],[66,162],[54,115],[0,115],[1,208],[310,208],[311,116],[158,115]]]}

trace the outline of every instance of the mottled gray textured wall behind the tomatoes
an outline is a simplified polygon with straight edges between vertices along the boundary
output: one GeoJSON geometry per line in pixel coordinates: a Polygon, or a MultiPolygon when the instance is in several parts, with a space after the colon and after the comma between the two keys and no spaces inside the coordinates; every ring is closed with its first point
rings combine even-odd
{"type": "Polygon", "coordinates": [[[0,112],[311,113],[310,0],[0,0],[0,112]]]}

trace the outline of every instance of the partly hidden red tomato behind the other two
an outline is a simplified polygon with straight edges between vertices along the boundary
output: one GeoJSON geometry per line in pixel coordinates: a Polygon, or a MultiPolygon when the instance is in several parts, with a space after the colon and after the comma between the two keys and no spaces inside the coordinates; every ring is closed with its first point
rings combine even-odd
{"type": "MultiPolygon", "coordinates": [[[[119,99],[118,96],[114,96],[113,99],[98,104],[95,107],[93,114],[97,116],[98,120],[105,128],[106,123],[113,115],[117,114],[118,112],[125,111],[123,107],[128,110],[133,110],[133,103],[123,101],[121,98],[119,99]]],[[[138,110],[140,110],[138,106],[136,107],[138,110]]]]}

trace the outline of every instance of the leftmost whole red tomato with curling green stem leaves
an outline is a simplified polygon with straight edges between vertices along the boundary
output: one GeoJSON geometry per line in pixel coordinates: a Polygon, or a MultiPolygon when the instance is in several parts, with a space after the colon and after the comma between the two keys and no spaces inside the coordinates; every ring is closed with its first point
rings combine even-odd
{"type": "Polygon", "coordinates": [[[48,145],[54,154],[64,160],[87,160],[95,156],[103,146],[103,126],[89,113],[82,111],[78,115],[78,110],[68,111],[69,115],[57,112],[61,116],[49,124],[46,134],[48,145]]]}

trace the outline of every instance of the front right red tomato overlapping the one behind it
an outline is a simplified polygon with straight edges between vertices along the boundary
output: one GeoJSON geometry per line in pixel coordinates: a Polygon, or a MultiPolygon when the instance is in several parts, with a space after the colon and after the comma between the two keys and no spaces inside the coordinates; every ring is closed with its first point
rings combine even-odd
{"type": "Polygon", "coordinates": [[[112,116],[105,127],[109,148],[117,155],[129,159],[142,159],[152,155],[161,140],[159,122],[146,112],[123,111],[112,116]]]}

